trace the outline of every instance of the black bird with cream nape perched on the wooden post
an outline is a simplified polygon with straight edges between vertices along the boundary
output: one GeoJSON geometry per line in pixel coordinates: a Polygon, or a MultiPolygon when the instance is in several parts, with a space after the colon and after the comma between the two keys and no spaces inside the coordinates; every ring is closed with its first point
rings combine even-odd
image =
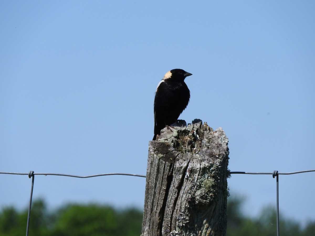
{"type": "Polygon", "coordinates": [[[158,83],[154,98],[154,137],[161,134],[161,129],[175,123],[187,107],[190,91],[184,80],[191,73],[181,69],[168,71],[158,83]]]}

